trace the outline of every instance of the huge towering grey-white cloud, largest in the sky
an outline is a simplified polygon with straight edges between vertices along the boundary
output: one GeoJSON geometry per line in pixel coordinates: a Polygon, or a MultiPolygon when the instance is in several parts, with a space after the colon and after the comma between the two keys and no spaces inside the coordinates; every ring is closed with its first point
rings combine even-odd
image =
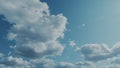
{"type": "Polygon", "coordinates": [[[13,24],[8,39],[16,41],[15,53],[29,58],[62,53],[57,41],[66,29],[62,14],[50,15],[48,5],[39,0],[0,0],[0,10],[13,24]]]}

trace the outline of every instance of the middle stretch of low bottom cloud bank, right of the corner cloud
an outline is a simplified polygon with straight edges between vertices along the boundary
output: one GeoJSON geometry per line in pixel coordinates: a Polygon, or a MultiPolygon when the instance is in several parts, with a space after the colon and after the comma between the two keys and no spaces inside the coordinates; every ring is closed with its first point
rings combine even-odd
{"type": "Polygon", "coordinates": [[[69,62],[54,62],[51,59],[33,59],[31,60],[31,64],[33,68],[95,68],[95,65],[91,62],[77,62],[77,63],[69,63],[69,62]]]}

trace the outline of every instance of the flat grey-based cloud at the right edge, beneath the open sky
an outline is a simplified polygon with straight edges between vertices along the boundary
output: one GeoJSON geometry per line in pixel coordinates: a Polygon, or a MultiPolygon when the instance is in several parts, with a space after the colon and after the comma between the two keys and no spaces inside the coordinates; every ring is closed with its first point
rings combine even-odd
{"type": "Polygon", "coordinates": [[[88,61],[101,61],[108,58],[117,57],[120,53],[120,43],[109,48],[108,45],[102,44],[86,44],[83,45],[79,51],[88,61]]]}

